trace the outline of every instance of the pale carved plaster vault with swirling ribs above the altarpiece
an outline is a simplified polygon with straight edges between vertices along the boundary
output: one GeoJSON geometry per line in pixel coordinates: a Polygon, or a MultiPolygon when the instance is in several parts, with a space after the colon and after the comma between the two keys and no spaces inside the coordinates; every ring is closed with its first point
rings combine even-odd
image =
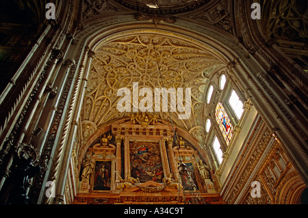
{"type": "MultiPolygon", "coordinates": [[[[103,43],[95,54],[84,97],[84,137],[105,123],[128,116],[129,112],[118,112],[116,108],[122,97],[117,96],[119,88],[127,87],[132,93],[133,82],[138,82],[139,90],[149,87],[153,93],[154,88],[162,88],[158,66],[166,88],[192,90],[190,119],[180,120],[178,112],[171,112],[172,120],[185,130],[201,125],[207,73],[222,64],[214,50],[171,34],[144,33],[103,43]]],[[[139,97],[139,100],[143,98],[139,97]]],[[[168,112],[156,113],[170,121],[168,112]]]]}

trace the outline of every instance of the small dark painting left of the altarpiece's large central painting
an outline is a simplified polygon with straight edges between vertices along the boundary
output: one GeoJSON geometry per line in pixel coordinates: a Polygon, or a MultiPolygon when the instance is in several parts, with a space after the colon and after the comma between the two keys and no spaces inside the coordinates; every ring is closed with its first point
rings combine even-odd
{"type": "Polygon", "coordinates": [[[111,190],[111,161],[95,162],[93,190],[110,191],[111,190]]]}

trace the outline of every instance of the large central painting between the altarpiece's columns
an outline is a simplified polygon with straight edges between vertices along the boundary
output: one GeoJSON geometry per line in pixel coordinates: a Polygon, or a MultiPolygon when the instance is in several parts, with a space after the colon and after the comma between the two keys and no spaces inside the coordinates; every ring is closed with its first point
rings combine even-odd
{"type": "Polygon", "coordinates": [[[139,178],[140,182],[149,180],[162,182],[164,169],[159,152],[159,143],[130,142],[129,151],[131,176],[133,178],[139,178]]]}

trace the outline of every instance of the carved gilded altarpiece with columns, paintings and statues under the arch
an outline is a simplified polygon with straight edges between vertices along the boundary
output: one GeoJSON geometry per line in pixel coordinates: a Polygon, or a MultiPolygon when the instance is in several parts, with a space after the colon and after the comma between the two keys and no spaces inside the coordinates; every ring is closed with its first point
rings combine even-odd
{"type": "Polygon", "coordinates": [[[184,204],[196,197],[221,204],[209,167],[185,135],[176,146],[168,123],[146,122],[112,124],[88,147],[75,204],[184,204]],[[179,173],[180,162],[189,174],[179,173]]]}

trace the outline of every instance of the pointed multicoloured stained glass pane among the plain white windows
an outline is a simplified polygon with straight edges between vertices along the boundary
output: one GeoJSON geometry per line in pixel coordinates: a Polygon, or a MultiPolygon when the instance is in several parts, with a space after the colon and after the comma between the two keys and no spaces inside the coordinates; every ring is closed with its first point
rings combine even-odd
{"type": "Polygon", "coordinates": [[[229,145],[233,136],[233,125],[230,122],[226,110],[224,110],[224,106],[222,106],[220,102],[216,106],[215,117],[219,125],[220,131],[222,132],[222,136],[224,137],[224,140],[226,141],[227,145],[229,145]]]}

